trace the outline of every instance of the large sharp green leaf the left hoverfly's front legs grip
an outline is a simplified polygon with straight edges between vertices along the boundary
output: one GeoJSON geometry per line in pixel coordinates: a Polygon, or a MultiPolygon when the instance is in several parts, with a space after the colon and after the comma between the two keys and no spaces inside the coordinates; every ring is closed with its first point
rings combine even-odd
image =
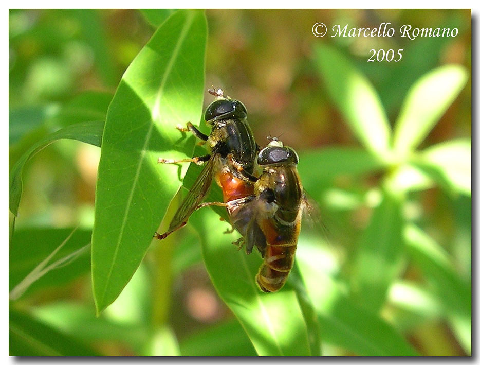
{"type": "Polygon", "coordinates": [[[180,167],[157,159],[193,150],[193,136],[175,125],[200,120],[206,37],[202,11],[175,12],[128,67],[108,109],[91,254],[98,313],[140,265],[180,185],[180,167]]]}

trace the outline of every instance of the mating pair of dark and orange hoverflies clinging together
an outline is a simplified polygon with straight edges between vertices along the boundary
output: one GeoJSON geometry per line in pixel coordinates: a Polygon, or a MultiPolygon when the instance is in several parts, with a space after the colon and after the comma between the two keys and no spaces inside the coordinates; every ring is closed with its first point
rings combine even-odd
{"type": "Polygon", "coordinates": [[[177,126],[204,141],[209,154],[183,160],[158,159],[159,163],[194,162],[205,167],[168,231],[155,233],[155,237],[163,239],[183,227],[201,207],[226,207],[232,228],[242,235],[234,243],[245,245],[247,254],[255,246],[264,259],[255,278],[257,285],[264,292],[278,291],[293,267],[302,211],[307,205],[297,172],[298,154],[275,137],[269,137],[268,145],[260,149],[243,103],[224,96],[221,89],[209,89],[209,93],[216,96],[205,112],[210,135],[190,122],[187,128],[177,126]],[[224,202],[202,203],[213,179],[223,191],[224,202]]]}

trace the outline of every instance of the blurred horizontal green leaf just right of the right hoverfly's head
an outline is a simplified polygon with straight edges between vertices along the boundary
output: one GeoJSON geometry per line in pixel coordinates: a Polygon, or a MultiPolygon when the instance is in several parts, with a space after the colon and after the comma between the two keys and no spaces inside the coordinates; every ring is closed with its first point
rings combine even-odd
{"type": "Polygon", "coordinates": [[[385,163],[372,153],[360,148],[330,147],[300,154],[298,170],[305,186],[319,180],[333,180],[340,176],[357,176],[385,168],[385,163]]]}

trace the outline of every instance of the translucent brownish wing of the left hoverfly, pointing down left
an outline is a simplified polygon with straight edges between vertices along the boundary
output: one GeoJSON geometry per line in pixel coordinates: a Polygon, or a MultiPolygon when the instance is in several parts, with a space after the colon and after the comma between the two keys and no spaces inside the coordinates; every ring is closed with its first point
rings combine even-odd
{"type": "Polygon", "coordinates": [[[213,178],[213,169],[216,164],[217,155],[213,155],[206,163],[204,169],[201,170],[197,180],[193,183],[187,196],[183,199],[180,207],[175,213],[169,226],[169,232],[176,230],[185,224],[190,215],[195,211],[195,207],[204,200],[210,189],[213,178]]]}

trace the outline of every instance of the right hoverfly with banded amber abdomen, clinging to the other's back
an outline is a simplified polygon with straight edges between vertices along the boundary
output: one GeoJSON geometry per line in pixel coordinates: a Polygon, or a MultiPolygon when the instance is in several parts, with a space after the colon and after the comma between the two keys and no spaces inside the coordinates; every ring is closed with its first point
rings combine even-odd
{"type": "Polygon", "coordinates": [[[255,277],[264,292],[278,291],[285,284],[308,205],[297,171],[297,152],[277,138],[270,139],[257,158],[263,172],[254,184],[254,194],[226,204],[247,253],[256,246],[264,258],[255,277]]]}

